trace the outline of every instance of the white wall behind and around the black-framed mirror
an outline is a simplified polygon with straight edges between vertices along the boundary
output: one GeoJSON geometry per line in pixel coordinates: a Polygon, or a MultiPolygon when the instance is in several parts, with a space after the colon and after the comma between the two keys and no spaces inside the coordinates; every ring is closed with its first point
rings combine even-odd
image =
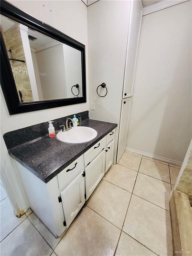
{"type": "MultiPolygon", "coordinates": [[[[87,7],[82,1],[10,1],[18,8],[60,30],[85,45],[86,80],[88,95],[88,58],[87,58],[87,7]],[[44,6],[43,6],[44,5],[44,6]],[[51,10],[51,11],[50,11],[51,10]]],[[[87,102],[82,104],[33,111],[10,116],[1,90],[1,132],[2,134],[46,122],[62,116],[89,109],[87,102]]]]}

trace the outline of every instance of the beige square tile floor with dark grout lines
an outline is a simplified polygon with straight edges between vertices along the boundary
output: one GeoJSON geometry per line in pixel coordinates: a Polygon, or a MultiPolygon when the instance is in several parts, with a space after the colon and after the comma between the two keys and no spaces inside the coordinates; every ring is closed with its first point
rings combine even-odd
{"type": "Polygon", "coordinates": [[[179,169],[125,152],[67,233],[57,239],[31,209],[16,218],[1,187],[0,255],[173,255],[168,202],[179,169]]]}

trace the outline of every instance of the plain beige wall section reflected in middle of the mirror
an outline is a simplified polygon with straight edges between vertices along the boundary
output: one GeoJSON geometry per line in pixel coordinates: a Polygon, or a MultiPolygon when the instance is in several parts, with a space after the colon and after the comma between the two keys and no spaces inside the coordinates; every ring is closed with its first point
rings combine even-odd
{"type": "Polygon", "coordinates": [[[44,100],[67,98],[63,45],[36,53],[44,100]]]}

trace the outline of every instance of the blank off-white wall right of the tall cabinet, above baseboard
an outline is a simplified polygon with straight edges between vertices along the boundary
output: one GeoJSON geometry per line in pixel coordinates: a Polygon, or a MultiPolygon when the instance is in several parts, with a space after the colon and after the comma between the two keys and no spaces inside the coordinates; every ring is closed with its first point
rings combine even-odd
{"type": "Polygon", "coordinates": [[[188,1],[143,16],[126,147],[182,162],[191,102],[188,1]]]}

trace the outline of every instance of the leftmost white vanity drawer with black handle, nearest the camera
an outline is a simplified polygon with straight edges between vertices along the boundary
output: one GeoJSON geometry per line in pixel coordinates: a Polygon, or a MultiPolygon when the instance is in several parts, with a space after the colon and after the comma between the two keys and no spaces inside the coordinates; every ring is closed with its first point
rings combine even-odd
{"type": "Polygon", "coordinates": [[[59,190],[68,184],[83,169],[84,163],[82,155],[57,175],[59,190]]]}

